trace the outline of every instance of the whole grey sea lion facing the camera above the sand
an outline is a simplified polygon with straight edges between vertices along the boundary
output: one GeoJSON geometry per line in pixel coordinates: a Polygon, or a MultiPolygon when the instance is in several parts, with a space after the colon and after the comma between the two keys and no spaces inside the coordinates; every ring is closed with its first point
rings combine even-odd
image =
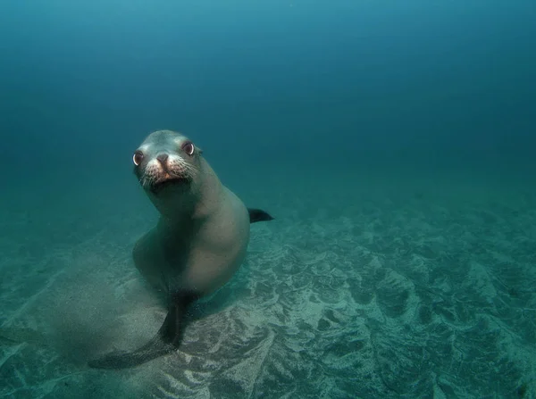
{"type": "Polygon", "coordinates": [[[129,368],[172,353],[188,306],[222,287],[244,261],[250,223],[273,219],[248,209],[223,186],[202,151],[180,133],[151,133],[133,162],[160,218],[134,245],[132,257],[143,277],[167,296],[168,313],[146,345],[88,363],[98,369],[129,368]]]}

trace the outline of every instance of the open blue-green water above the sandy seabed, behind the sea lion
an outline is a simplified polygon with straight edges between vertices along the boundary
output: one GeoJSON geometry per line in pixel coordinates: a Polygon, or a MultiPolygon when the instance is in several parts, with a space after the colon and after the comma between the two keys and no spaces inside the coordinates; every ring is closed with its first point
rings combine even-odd
{"type": "Polygon", "coordinates": [[[535,8],[4,2],[1,162],[107,167],[168,128],[222,162],[534,170],[535,8]]]}

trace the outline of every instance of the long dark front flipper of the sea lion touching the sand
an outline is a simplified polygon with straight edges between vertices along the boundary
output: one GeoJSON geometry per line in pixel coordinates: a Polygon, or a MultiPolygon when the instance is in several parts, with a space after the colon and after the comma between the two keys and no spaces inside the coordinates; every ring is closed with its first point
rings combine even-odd
{"type": "Polygon", "coordinates": [[[197,299],[198,295],[173,295],[165,320],[158,333],[146,345],[133,352],[114,351],[100,359],[88,362],[93,369],[128,369],[139,364],[152,361],[167,353],[172,353],[180,345],[182,338],[184,315],[188,305],[197,299]]]}

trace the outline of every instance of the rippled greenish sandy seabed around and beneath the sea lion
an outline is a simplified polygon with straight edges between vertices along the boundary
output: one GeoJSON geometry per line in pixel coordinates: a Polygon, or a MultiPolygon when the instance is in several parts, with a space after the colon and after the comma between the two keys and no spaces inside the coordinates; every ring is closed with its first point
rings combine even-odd
{"type": "Polygon", "coordinates": [[[3,195],[0,397],[536,397],[536,190],[337,178],[227,181],[277,219],[180,350],[132,370],[87,362],[163,321],[130,259],[156,220],[135,181],[3,195]]]}

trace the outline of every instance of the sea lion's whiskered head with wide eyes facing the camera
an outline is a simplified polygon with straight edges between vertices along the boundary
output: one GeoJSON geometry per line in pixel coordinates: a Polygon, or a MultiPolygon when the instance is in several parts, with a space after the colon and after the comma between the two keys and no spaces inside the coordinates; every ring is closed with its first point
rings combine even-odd
{"type": "Polygon", "coordinates": [[[187,191],[200,172],[201,150],[172,130],[151,133],[132,156],[134,174],[151,197],[187,191]]]}

